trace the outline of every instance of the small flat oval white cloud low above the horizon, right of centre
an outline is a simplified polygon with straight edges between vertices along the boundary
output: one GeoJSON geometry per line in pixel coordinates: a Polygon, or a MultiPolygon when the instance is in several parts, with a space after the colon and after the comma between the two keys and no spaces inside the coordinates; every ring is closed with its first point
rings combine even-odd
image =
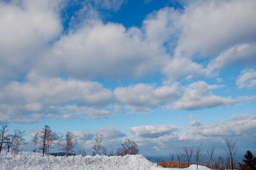
{"type": "Polygon", "coordinates": [[[170,135],[177,131],[179,128],[171,125],[159,125],[159,126],[140,126],[140,127],[132,127],[132,133],[139,137],[146,137],[146,138],[157,138],[163,135],[170,135]]]}

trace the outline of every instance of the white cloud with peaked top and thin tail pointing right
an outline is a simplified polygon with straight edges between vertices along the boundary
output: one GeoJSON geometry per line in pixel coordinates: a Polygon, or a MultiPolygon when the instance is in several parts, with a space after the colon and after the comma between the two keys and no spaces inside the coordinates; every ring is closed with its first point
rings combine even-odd
{"type": "Polygon", "coordinates": [[[193,82],[186,87],[184,95],[174,103],[174,108],[195,110],[218,105],[232,105],[238,102],[234,98],[219,97],[211,93],[212,89],[220,87],[218,85],[209,85],[204,81],[193,82]]]}

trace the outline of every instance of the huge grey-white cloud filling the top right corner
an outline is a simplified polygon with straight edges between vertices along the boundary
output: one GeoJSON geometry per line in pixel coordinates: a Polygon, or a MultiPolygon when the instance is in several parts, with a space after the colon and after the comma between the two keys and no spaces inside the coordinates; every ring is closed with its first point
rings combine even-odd
{"type": "Polygon", "coordinates": [[[255,1],[192,1],[177,24],[182,33],[176,56],[218,55],[237,44],[255,42],[255,1]]]}

